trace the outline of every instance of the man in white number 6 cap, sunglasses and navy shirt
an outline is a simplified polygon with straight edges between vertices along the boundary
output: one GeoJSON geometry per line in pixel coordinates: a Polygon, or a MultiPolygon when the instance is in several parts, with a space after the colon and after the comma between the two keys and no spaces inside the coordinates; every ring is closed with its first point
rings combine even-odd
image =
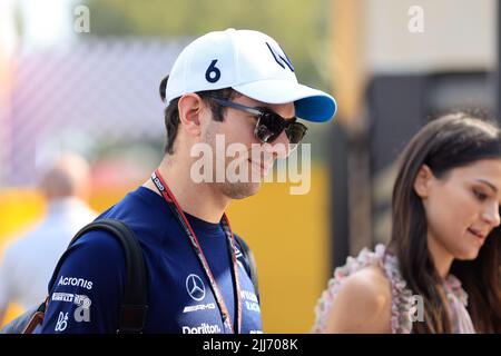
{"type": "MultiPolygon", "coordinates": [[[[148,271],[143,332],[262,333],[256,290],[224,212],[232,199],[256,194],[256,176],[263,178],[276,157],[288,154],[288,144],[301,141],[306,128],[295,116],[326,121],[335,101],[298,85],[291,60],[271,37],[234,29],[188,44],[160,96],[168,102],[164,159],[151,179],[100,216],[127,224],[143,248],[148,271]],[[220,157],[222,138],[224,148],[239,145],[240,179],[227,179],[233,161],[220,157]],[[256,146],[265,146],[257,158],[250,152],[256,146]],[[199,157],[191,154],[205,148],[215,162],[202,167],[207,179],[198,181],[199,157]]],[[[118,241],[89,233],[59,264],[41,332],[115,333],[126,279],[118,241]],[[84,296],[87,317],[61,295],[84,296]]]]}

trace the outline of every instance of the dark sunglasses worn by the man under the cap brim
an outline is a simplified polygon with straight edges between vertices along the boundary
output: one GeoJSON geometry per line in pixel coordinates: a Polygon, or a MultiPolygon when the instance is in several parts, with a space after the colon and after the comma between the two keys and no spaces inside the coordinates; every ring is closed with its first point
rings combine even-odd
{"type": "Polygon", "coordinates": [[[307,132],[307,127],[297,122],[297,118],[284,119],[278,113],[265,108],[250,108],[235,101],[213,98],[222,107],[233,108],[250,113],[257,118],[254,136],[263,144],[271,144],[285,130],[288,141],[298,144],[307,132]]]}

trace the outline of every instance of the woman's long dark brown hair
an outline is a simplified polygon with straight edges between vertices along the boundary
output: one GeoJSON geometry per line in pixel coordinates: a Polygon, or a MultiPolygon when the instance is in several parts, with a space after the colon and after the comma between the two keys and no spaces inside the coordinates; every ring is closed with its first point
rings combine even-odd
{"type": "MultiPolygon", "coordinates": [[[[430,256],[426,218],[414,180],[422,165],[438,178],[451,169],[479,159],[501,158],[501,135],[495,123],[464,112],[429,122],[409,142],[400,159],[393,188],[392,238],[389,250],[399,259],[403,278],[424,300],[424,323],[413,323],[413,333],[451,333],[446,296],[430,256]]],[[[477,332],[501,333],[500,228],[471,261],[451,267],[469,295],[468,310],[477,332]]]]}

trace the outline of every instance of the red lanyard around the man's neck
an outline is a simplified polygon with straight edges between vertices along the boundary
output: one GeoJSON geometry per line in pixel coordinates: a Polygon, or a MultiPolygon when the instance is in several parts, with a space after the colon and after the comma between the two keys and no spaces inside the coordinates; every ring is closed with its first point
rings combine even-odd
{"type": "Polygon", "coordinates": [[[213,273],[210,271],[210,267],[207,264],[207,260],[204,256],[204,251],[202,250],[200,244],[198,243],[197,236],[195,235],[195,231],[191,228],[191,225],[189,225],[188,219],[186,218],[186,215],[183,212],[183,209],[179,207],[179,204],[177,202],[176,198],[174,197],[173,192],[170,191],[167,184],[164,181],[164,179],[160,176],[160,172],[158,169],[155,170],[154,174],[151,174],[151,180],[157,187],[158,191],[164,197],[165,201],[169,206],[170,210],[173,211],[174,216],[176,216],[178,222],[183,227],[183,229],[186,233],[186,236],[188,240],[190,241],[190,245],[195,251],[195,254],[198,257],[198,261],[202,265],[202,268],[205,271],[205,275],[207,279],[210,283],[210,288],[213,289],[214,297],[216,298],[217,306],[219,307],[220,317],[223,319],[224,325],[227,327],[228,330],[239,334],[240,327],[242,327],[242,299],[240,299],[240,283],[238,280],[238,265],[236,260],[236,254],[235,254],[235,237],[233,236],[232,228],[229,226],[229,220],[226,216],[226,214],[223,215],[223,219],[220,220],[223,230],[226,235],[227,246],[228,246],[228,253],[229,258],[233,263],[232,268],[232,277],[233,277],[233,286],[235,288],[235,319],[237,320],[236,329],[233,328],[232,318],[229,316],[228,308],[226,307],[225,300],[223,299],[223,295],[217,287],[216,279],[213,276],[213,273]]]}

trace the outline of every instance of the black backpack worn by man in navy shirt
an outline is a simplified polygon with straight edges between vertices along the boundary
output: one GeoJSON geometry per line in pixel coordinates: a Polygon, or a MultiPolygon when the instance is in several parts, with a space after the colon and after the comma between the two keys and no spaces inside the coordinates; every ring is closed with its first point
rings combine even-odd
{"type": "MultiPolygon", "coordinates": [[[[71,239],[68,248],[82,235],[91,230],[106,230],[110,233],[119,240],[125,253],[127,279],[124,301],[120,306],[118,316],[117,334],[140,334],[145,327],[146,315],[148,312],[147,276],[141,247],[134,231],[127,225],[116,219],[102,219],[90,222],[81,228],[71,239]]],[[[253,281],[257,299],[259,300],[257,270],[254,256],[247,244],[237,235],[234,236],[246,263],[244,268],[253,281]]],[[[60,264],[56,266],[53,275],[57,276],[59,274],[59,268],[60,264]]],[[[6,325],[0,330],[0,334],[31,334],[38,325],[42,324],[45,313],[49,305],[49,298],[50,296],[48,296],[39,306],[28,309],[21,316],[6,325]]]]}

